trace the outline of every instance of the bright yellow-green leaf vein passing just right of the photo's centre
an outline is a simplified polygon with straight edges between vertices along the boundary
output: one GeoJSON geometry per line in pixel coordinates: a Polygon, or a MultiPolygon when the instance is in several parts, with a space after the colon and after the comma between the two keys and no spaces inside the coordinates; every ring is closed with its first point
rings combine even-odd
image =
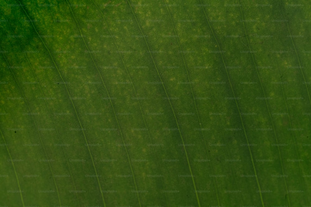
{"type": "Polygon", "coordinates": [[[150,56],[151,56],[152,62],[153,62],[153,64],[154,64],[155,68],[156,68],[156,72],[157,72],[157,74],[158,74],[158,76],[159,76],[159,79],[160,79],[160,81],[161,81],[162,87],[163,87],[164,92],[165,92],[165,94],[166,94],[166,97],[167,97],[167,99],[168,99],[168,101],[169,101],[169,105],[170,105],[170,107],[171,107],[171,109],[172,109],[172,112],[173,112],[173,115],[174,115],[174,119],[175,119],[175,122],[176,122],[176,125],[177,125],[177,128],[178,128],[178,132],[179,132],[181,141],[183,142],[183,149],[184,149],[184,151],[185,151],[185,155],[186,155],[186,159],[187,159],[189,171],[190,171],[190,174],[191,174],[193,186],[194,186],[194,189],[195,189],[195,192],[196,192],[196,197],[197,197],[198,206],[201,207],[201,204],[200,204],[200,201],[199,201],[199,198],[198,198],[198,195],[197,195],[197,188],[196,188],[196,185],[195,185],[195,182],[194,182],[194,179],[193,179],[193,173],[192,173],[192,169],[191,169],[191,166],[190,166],[188,153],[187,153],[187,150],[186,150],[184,141],[183,141],[183,136],[182,136],[181,131],[180,131],[180,128],[179,128],[179,124],[178,124],[178,121],[177,121],[177,117],[176,117],[175,111],[174,111],[174,109],[173,109],[172,103],[171,103],[171,101],[170,101],[170,99],[169,99],[169,95],[168,95],[168,93],[167,93],[167,91],[166,91],[166,89],[165,89],[165,86],[164,86],[164,84],[163,84],[163,81],[162,81],[162,78],[161,78],[161,76],[160,76],[159,70],[158,70],[158,68],[157,68],[157,66],[156,66],[156,63],[155,63],[155,61],[154,61],[154,59],[153,59],[153,56],[151,55],[150,48],[149,48],[149,45],[148,45],[147,40],[146,40],[146,36],[145,36],[145,35],[143,34],[143,32],[142,32],[142,29],[141,29],[141,27],[140,27],[140,25],[139,25],[139,23],[138,23],[138,21],[137,21],[137,18],[136,18],[136,16],[135,16],[135,13],[134,13],[134,11],[133,11],[133,8],[132,8],[131,3],[129,2],[129,0],[128,0],[128,4],[129,4],[129,6],[130,6],[130,8],[131,8],[131,10],[132,10],[133,16],[134,16],[134,18],[135,18],[135,20],[136,20],[136,22],[137,22],[137,25],[138,25],[138,27],[139,27],[139,30],[140,30],[140,32],[142,33],[142,36],[143,36],[143,38],[144,38],[144,40],[145,40],[145,43],[146,43],[146,46],[148,47],[148,51],[149,51],[149,54],[150,54],[150,56]]]}

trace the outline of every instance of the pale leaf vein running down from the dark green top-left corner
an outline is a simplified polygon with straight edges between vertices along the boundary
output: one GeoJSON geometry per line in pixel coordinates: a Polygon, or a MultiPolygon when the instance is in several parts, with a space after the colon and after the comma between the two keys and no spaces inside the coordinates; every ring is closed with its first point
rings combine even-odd
{"type": "MultiPolygon", "coordinates": [[[[18,2],[20,2],[20,1],[18,1],[18,2]]],[[[68,2],[67,2],[67,3],[68,3],[68,2]]],[[[20,4],[21,4],[21,2],[20,2],[20,4]]],[[[21,5],[22,5],[22,4],[21,4],[21,5]]],[[[31,19],[30,19],[30,16],[28,15],[28,13],[26,12],[26,10],[24,9],[24,6],[21,6],[21,8],[24,10],[24,12],[26,13],[26,15],[27,15],[27,17],[29,18],[29,20],[31,20],[31,19]]],[[[57,65],[56,65],[56,63],[55,63],[54,58],[53,58],[53,56],[52,56],[50,50],[48,49],[48,47],[47,47],[46,44],[44,43],[43,39],[40,37],[40,35],[39,35],[37,29],[35,28],[35,25],[33,24],[33,22],[32,22],[32,21],[30,21],[30,22],[31,22],[32,26],[34,27],[35,32],[38,34],[39,38],[41,39],[41,41],[42,41],[44,47],[45,47],[46,50],[49,52],[49,55],[50,55],[50,57],[51,57],[51,59],[52,59],[52,61],[53,61],[53,64],[55,65],[55,68],[56,68],[56,70],[57,70],[57,72],[58,72],[60,78],[61,78],[62,81],[65,83],[65,81],[64,81],[64,79],[63,79],[63,76],[62,76],[62,74],[60,73],[60,71],[59,71],[59,69],[58,69],[58,67],[57,67],[57,65]]],[[[77,119],[78,119],[78,121],[79,121],[80,127],[81,127],[81,129],[82,129],[82,133],[83,133],[83,136],[84,136],[84,140],[85,140],[85,142],[86,142],[86,144],[87,144],[87,149],[88,149],[88,151],[89,151],[89,153],[90,153],[90,156],[91,156],[91,160],[92,160],[92,164],[93,164],[93,167],[94,167],[94,170],[95,170],[97,182],[98,182],[98,185],[99,185],[99,187],[100,187],[101,196],[102,196],[102,199],[103,199],[103,202],[104,202],[103,191],[102,191],[102,189],[101,189],[100,182],[99,182],[99,178],[98,178],[98,176],[97,176],[97,171],[96,171],[95,164],[94,164],[94,160],[93,160],[93,157],[92,157],[92,154],[91,154],[91,151],[90,151],[90,147],[89,147],[89,145],[88,145],[88,143],[87,143],[87,140],[86,140],[86,135],[85,135],[85,133],[84,133],[84,130],[83,130],[81,121],[80,121],[80,119],[79,119],[79,116],[78,116],[78,113],[77,113],[77,110],[76,110],[76,107],[75,107],[75,105],[73,104],[72,98],[71,98],[70,93],[69,93],[69,91],[68,91],[67,85],[64,84],[64,86],[65,86],[65,88],[66,88],[66,91],[67,91],[67,93],[68,93],[69,99],[70,99],[70,101],[71,101],[71,104],[72,104],[72,106],[73,106],[73,109],[74,109],[74,111],[75,111],[75,114],[76,114],[76,116],[77,116],[77,119]]],[[[55,180],[54,176],[53,176],[53,179],[55,180]]],[[[104,207],[106,207],[105,202],[104,202],[104,207]]]]}

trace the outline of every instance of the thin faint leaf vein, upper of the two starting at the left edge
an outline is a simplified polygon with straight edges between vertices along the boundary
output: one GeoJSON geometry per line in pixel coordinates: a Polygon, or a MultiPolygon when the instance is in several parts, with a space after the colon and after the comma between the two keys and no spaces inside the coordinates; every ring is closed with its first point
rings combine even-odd
{"type": "MultiPolygon", "coordinates": [[[[1,48],[0,48],[0,51],[1,51],[1,48]]],[[[3,53],[2,53],[2,54],[3,54],[3,53]]],[[[3,54],[3,57],[4,57],[5,61],[7,62],[7,65],[10,66],[10,64],[9,64],[9,62],[7,61],[7,58],[4,56],[4,54],[3,54]]],[[[18,81],[17,81],[17,79],[16,79],[16,76],[15,76],[15,74],[14,74],[14,72],[13,72],[13,70],[12,70],[11,67],[10,67],[10,70],[11,70],[11,73],[13,74],[13,77],[14,77],[14,79],[15,79],[15,81],[16,81],[16,84],[17,84],[18,88],[21,90],[21,93],[22,93],[22,95],[23,95],[23,98],[25,99],[25,103],[26,103],[26,105],[27,105],[28,110],[29,110],[30,113],[31,113],[31,118],[32,118],[32,120],[34,121],[35,127],[36,127],[36,129],[37,129],[38,134],[39,134],[39,139],[40,139],[40,142],[41,142],[41,144],[42,144],[42,147],[43,147],[43,150],[44,150],[44,154],[45,154],[45,156],[47,157],[47,159],[49,160],[49,156],[48,156],[48,154],[46,153],[46,150],[45,150],[45,147],[44,147],[44,144],[43,144],[43,141],[42,141],[42,137],[41,137],[41,134],[40,134],[40,132],[39,132],[38,125],[37,125],[37,123],[36,123],[36,121],[35,121],[34,115],[33,115],[32,112],[31,112],[31,109],[30,109],[30,106],[29,106],[28,101],[27,101],[27,99],[26,99],[26,96],[25,96],[23,90],[21,89],[21,86],[20,86],[20,84],[18,83],[18,81]]],[[[52,170],[52,166],[51,166],[51,163],[50,163],[50,162],[48,162],[48,163],[49,163],[49,168],[50,168],[50,170],[51,170],[52,177],[53,177],[53,181],[54,181],[54,184],[55,184],[55,187],[56,187],[56,192],[57,192],[57,196],[58,196],[58,202],[59,202],[60,205],[62,205],[62,202],[61,202],[60,196],[59,196],[59,192],[58,192],[58,187],[57,187],[57,184],[56,184],[56,180],[55,180],[55,178],[54,178],[54,173],[53,173],[53,170],[52,170]]]]}

